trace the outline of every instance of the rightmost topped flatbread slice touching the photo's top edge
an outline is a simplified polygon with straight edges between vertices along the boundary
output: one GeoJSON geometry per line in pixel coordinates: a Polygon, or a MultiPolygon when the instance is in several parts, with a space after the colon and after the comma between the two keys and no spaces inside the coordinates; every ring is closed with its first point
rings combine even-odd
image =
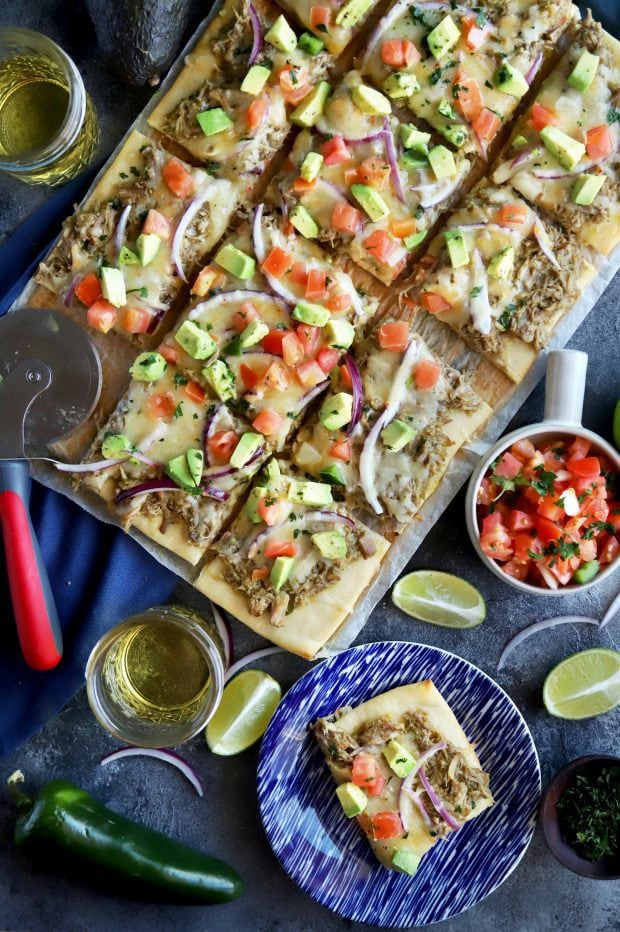
{"type": "Polygon", "coordinates": [[[483,158],[577,13],[570,0],[460,4],[397,0],[369,37],[358,67],[377,87],[412,76],[416,117],[483,158]]]}

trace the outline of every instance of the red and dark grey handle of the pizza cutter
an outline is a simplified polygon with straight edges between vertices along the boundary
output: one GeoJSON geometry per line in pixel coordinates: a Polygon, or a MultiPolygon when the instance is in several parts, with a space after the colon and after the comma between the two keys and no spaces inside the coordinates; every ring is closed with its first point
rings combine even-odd
{"type": "Polygon", "coordinates": [[[62,635],[54,596],[30,520],[29,499],[27,463],[0,462],[0,524],[17,634],[29,666],[35,670],[50,670],[62,657],[62,635]]]}

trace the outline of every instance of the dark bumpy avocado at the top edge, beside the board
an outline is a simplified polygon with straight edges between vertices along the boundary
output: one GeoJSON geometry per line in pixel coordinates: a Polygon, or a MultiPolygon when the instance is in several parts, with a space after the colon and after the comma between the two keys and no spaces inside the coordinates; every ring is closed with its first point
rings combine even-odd
{"type": "Polygon", "coordinates": [[[111,70],[127,84],[158,83],[179,52],[192,0],[85,2],[111,70]]]}

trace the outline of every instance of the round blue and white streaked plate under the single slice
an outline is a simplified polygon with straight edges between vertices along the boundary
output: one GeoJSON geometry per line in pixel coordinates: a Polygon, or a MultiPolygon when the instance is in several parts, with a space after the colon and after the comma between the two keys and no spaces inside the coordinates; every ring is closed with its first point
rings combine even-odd
{"type": "Polygon", "coordinates": [[[344,651],[301,677],[263,738],[258,798],[267,838],[302,890],[347,919],[424,926],[469,909],[515,869],[540,800],[536,748],[521,714],[490,677],[424,644],[380,641],[344,651]],[[438,842],[415,877],[386,870],[343,816],[308,724],[396,686],[432,679],[491,774],[495,805],[438,842]]]}

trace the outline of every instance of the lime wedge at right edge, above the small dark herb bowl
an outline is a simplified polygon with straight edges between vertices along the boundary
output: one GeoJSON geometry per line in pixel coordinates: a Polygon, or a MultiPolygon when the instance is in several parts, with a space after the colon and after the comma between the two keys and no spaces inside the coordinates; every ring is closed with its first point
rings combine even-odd
{"type": "Polygon", "coordinates": [[[571,654],[545,680],[543,701],[557,718],[592,718],[620,705],[620,653],[593,647],[571,654]]]}

